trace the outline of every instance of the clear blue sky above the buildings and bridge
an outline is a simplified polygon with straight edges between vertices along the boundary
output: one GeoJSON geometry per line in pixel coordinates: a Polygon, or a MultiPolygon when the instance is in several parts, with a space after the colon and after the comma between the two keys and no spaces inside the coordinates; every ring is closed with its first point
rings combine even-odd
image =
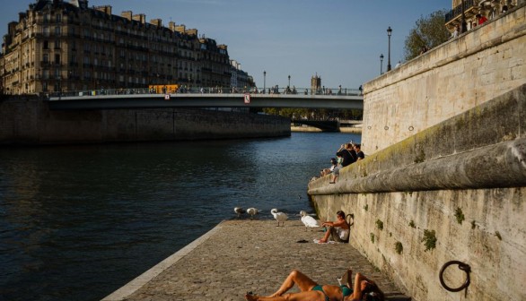
{"type": "MultiPolygon", "coordinates": [[[[65,0],[69,2],[69,0],[65,0]]],[[[0,35],[33,0],[2,0],[0,35]]],[[[173,21],[228,46],[258,87],[311,86],[356,89],[404,59],[404,41],[420,17],[451,10],[451,0],[90,0],[112,13],[145,13],[146,21],[173,21]]]]}

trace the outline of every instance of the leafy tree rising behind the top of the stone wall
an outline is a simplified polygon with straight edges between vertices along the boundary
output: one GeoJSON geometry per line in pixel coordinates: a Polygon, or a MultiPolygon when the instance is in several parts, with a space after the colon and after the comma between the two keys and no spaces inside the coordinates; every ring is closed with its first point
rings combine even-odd
{"type": "Polygon", "coordinates": [[[431,49],[447,41],[451,34],[444,25],[445,10],[431,13],[426,18],[421,16],[415,27],[406,38],[406,61],[420,55],[422,47],[431,49]]]}

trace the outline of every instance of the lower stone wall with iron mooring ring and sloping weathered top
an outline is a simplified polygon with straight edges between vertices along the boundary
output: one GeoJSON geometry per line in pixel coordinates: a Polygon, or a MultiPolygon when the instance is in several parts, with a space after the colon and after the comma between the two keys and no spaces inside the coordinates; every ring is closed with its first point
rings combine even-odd
{"type": "MultiPolygon", "coordinates": [[[[343,168],[335,185],[311,182],[311,200],[320,219],[354,213],[351,244],[415,300],[525,300],[524,120],[526,84],[343,168]],[[471,267],[467,297],[439,282],[452,260],[471,267]]],[[[464,279],[445,273],[452,288],[464,279]]]]}

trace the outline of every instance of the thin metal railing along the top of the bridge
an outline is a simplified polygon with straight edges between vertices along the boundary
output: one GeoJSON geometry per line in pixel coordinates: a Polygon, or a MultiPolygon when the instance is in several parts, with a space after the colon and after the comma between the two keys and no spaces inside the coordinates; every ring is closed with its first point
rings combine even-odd
{"type": "MultiPolygon", "coordinates": [[[[280,95],[341,95],[341,96],[360,96],[362,91],[351,88],[321,88],[314,90],[311,88],[218,88],[218,87],[190,87],[181,86],[175,91],[178,94],[280,94],[280,95]]],[[[101,96],[101,95],[134,95],[134,94],[159,94],[148,88],[129,88],[129,89],[92,89],[92,90],[74,90],[62,92],[50,92],[48,97],[78,97],[78,96],[101,96]]],[[[173,94],[173,93],[172,93],[173,94]]],[[[162,94],[160,94],[162,95],[162,94]]]]}

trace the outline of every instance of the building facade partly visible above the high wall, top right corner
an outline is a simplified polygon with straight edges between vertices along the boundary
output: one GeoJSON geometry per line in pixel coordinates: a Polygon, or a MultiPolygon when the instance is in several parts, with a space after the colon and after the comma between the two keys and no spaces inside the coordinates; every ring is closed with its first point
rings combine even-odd
{"type": "Polygon", "coordinates": [[[462,20],[465,20],[466,30],[472,30],[478,25],[478,14],[491,20],[523,2],[524,0],[452,0],[452,9],[446,13],[445,25],[448,30],[453,31],[457,26],[461,29],[462,20]]]}

